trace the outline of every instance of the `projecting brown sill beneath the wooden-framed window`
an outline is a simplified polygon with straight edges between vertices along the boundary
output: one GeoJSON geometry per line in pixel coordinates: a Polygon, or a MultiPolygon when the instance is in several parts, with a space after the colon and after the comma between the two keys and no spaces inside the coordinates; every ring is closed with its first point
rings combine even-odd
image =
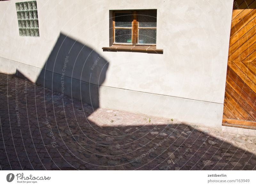
{"type": "Polygon", "coordinates": [[[102,47],[103,51],[129,51],[129,52],[145,52],[163,54],[163,49],[156,49],[156,46],[133,46],[133,45],[112,45],[110,47],[102,47]]]}

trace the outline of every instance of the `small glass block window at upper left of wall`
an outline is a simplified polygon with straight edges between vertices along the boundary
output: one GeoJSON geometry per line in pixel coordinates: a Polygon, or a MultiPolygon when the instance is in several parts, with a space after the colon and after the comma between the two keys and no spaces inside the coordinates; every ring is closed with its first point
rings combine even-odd
{"type": "Polygon", "coordinates": [[[39,37],[36,1],[16,3],[20,36],[39,37]]]}

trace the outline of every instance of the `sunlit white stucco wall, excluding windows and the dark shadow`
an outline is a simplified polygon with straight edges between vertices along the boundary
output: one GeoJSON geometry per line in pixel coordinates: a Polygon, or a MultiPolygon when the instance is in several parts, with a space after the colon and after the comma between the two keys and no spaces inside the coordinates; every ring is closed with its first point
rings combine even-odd
{"type": "Polygon", "coordinates": [[[37,0],[40,37],[19,36],[16,2],[0,2],[1,72],[35,81],[62,33],[108,61],[100,106],[221,126],[233,0],[37,0]],[[123,9],[157,9],[163,54],[102,51],[123,9]]]}

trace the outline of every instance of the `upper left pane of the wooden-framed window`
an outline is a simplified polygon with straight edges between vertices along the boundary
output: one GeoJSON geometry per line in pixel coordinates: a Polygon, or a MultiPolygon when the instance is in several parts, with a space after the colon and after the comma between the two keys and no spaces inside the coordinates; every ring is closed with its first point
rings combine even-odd
{"type": "Polygon", "coordinates": [[[115,13],[115,27],[132,27],[132,13],[115,13]]]}

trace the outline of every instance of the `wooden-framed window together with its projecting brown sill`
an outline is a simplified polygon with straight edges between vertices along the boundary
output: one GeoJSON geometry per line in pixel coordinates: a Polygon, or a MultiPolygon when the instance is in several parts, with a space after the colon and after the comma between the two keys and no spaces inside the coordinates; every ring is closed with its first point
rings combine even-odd
{"type": "Polygon", "coordinates": [[[113,11],[112,15],[111,46],[103,51],[163,52],[156,49],[156,10],[113,11]]]}

